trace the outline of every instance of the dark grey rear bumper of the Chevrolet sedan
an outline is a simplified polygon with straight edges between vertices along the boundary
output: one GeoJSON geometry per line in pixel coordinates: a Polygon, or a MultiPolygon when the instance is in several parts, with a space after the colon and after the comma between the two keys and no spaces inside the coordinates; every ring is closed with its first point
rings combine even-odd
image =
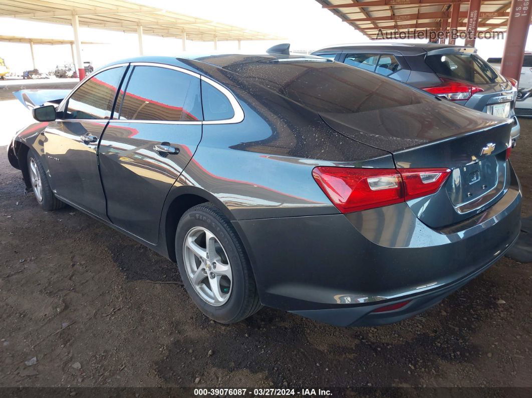
{"type": "Polygon", "coordinates": [[[338,326],[393,323],[433,306],[508,250],[520,230],[521,190],[440,230],[406,204],[344,216],[236,221],[263,304],[338,326]],[[376,308],[411,300],[400,310],[376,308]]]}

